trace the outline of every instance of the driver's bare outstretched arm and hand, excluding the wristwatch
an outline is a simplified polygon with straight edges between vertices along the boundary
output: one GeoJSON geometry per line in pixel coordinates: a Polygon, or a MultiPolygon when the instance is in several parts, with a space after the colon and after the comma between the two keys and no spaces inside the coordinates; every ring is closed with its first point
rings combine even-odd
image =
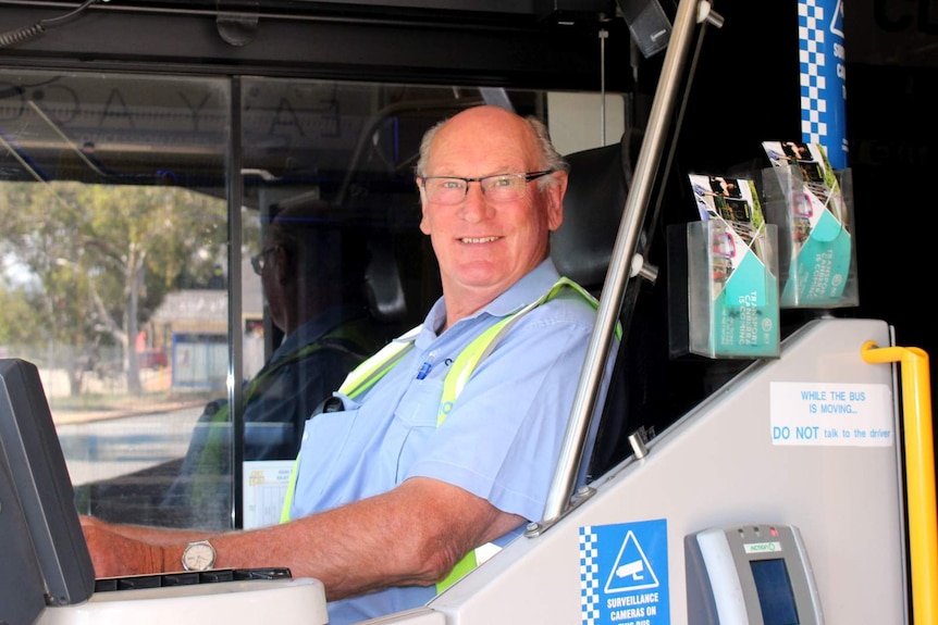
{"type": "MultiPolygon", "coordinates": [[[[328,512],[210,538],[215,567],[286,566],[294,577],[322,582],[332,601],[391,586],[434,584],[467,552],[523,522],[461,488],[415,477],[328,512]]],[[[205,538],[99,522],[84,527],[99,577],[180,570],[186,542],[205,538]]]]}

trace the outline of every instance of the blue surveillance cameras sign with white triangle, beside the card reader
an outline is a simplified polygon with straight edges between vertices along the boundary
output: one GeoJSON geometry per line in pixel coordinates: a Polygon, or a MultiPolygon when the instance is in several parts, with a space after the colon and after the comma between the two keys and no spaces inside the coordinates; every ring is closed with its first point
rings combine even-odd
{"type": "Polygon", "coordinates": [[[669,625],[664,518],[580,528],[583,625],[669,625]]]}

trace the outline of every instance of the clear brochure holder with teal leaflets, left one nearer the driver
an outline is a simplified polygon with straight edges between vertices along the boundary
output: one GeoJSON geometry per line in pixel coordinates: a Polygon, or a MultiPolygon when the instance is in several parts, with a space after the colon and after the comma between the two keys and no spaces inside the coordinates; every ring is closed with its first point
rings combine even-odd
{"type": "Polygon", "coordinates": [[[778,358],[778,230],[740,245],[718,220],[668,227],[671,358],[778,358]]]}

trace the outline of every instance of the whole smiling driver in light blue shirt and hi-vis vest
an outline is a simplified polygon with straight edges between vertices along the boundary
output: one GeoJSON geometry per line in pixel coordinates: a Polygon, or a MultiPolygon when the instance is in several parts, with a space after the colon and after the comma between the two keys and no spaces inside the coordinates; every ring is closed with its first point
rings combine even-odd
{"type": "Polygon", "coordinates": [[[443,297],[307,422],[285,523],[207,537],[86,518],[98,575],[178,570],[207,538],[212,566],[317,577],[330,623],[354,623],[424,604],[540,520],[595,321],[548,255],[566,185],[536,120],[480,107],[431,129],[417,186],[443,297]]]}

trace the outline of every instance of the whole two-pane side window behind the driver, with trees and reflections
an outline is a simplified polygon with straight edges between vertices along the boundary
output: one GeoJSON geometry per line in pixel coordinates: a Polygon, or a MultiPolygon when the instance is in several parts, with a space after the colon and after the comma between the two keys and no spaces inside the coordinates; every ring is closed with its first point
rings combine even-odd
{"type": "Polygon", "coordinates": [[[39,366],[81,512],[276,522],[305,421],[440,296],[423,133],[493,93],[582,116],[536,91],[0,72],[0,358],[39,366]]]}

